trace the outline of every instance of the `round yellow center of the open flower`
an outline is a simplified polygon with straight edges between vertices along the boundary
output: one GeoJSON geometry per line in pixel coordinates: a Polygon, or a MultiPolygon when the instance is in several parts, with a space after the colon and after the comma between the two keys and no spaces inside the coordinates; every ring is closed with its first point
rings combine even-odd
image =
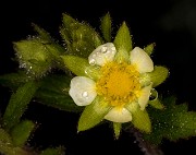
{"type": "Polygon", "coordinates": [[[101,68],[96,88],[111,106],[124,106],[138,97],[139,72],[132,64],[109,62],[101,68]]]}

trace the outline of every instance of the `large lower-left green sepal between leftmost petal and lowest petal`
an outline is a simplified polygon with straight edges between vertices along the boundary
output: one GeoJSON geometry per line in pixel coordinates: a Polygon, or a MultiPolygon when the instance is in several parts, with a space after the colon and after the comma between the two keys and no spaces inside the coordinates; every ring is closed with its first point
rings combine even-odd
{"type": "Polygon", "coordinates": [[[95,100],[85,107],[78,120],[77,131],[85,131],[94,128],[103,120],[103,117],[109,112],[111,107],[106,100],[97,96],[95,100]]]}

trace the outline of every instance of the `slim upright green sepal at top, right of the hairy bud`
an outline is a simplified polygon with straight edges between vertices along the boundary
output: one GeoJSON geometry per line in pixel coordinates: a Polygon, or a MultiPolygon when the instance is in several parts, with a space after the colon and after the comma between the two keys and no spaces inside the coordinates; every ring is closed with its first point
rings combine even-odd
{"type": "Polygon", "coordinates": [[[111,41],[111,16],[108,12],[105,16],[101,17],[101,32],[106,41],[111,41]]]}

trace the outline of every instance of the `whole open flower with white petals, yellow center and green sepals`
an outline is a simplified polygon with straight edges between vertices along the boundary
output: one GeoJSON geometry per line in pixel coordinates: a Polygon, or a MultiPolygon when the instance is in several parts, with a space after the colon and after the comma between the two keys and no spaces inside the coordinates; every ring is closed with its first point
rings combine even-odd
{"type": "Polygon", "coordinates": [[[119,124],[126,122],[142,131],[151,131],[146,107],[150,104],[162,108],[160,102],[156,102],[158,93],[154,87],[166,80],[168,70],[154,67],[149,48],[132,48],[131,43],[124,23],[114,41],[99,45],[88,59],[62,57],[66,68],[76,74],[71,80],[69,94],[77,106],[85,106],[78,131],[102,120],[113,122],[117,134],[121,129],[119,124]],[[149,100],[150,95],[156,99],[149,100]]]}

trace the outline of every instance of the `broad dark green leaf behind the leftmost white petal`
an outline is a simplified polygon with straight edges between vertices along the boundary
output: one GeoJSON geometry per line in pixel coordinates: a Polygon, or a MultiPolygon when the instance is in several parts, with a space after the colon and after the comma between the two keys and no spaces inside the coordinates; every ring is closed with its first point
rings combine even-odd
{"type": "Polygon", "coordinates": [[[69,95],[71,78],[66,75],[48,75],[42,79],[34,99],[46,106],[60,110],[79,112],[83,108],[76,106],[69,95]]]}

